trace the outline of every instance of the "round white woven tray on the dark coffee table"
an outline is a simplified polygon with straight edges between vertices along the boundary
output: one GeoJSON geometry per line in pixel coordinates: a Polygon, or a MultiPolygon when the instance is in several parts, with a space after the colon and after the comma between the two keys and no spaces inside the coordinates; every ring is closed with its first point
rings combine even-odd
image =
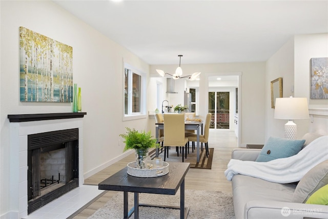
{"type": "Polygon", "coordinates": [[[139,169],[136,168],[136,162],[130,162],[128,164],[128,174],[137,177],[157,177],[166,175],[169,173],[169,163],[163,161],[163,167],[154,169],[139,169]]]}

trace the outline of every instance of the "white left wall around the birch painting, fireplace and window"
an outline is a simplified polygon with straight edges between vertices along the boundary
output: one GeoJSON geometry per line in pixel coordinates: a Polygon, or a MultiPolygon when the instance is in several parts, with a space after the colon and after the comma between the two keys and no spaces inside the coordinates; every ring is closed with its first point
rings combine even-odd
{"type": "MultiPolygon", "coordinates": [[[[73,47],[73,82],[82,88],[85,175],[122,155],[125,127],[147,128],[147,118],[122,122],[123,60],[149,73],[149,65],[51,1],[1,1],[0,216],[8,198],[8,114],[71,112],[71,104],[19,102],[19,26],[73,47]]],[[[18,157],[17,157],[18,159],[18,157]]]]}

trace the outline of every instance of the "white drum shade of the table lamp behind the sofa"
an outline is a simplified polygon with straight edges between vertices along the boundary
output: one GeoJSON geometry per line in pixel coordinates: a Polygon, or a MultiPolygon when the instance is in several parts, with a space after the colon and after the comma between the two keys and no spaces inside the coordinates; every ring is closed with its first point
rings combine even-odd
{"type": "Polygon", "coordinates": [[[276,98],[274,118],[280,120],[308,119],[308,99],[297,97],[276,98]]]}

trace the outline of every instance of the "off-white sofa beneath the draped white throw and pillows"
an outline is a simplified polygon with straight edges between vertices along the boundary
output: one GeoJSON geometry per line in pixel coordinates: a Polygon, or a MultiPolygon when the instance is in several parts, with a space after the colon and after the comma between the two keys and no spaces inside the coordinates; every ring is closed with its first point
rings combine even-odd
{"type": "MultiPolygon", "coordinates": [[[[316,137],[317,135],[308,135],[305,144],[309,144],[316,137]]],[[[243,161],[255,161],[260,151],[261,149],[238,148],[232,151],[232,158],[243,161]]],[[[326,170],[328,169],[328,161],[319,165],[321,165],[321,169],[324,167],[324,177],[328,179],[328,170],[326,170]]],[[[318,168],[319,166],[317,169],[318,168]]],[[[310,175],[310,171],[308,173],[310,175]]],[[[308,173],[306,173],[303,178],[308,175],[308,173]]],[[[232,178],[232,189],[235,218],[327,219],[328,206],[293,202],[293,200],[295,200],[294,192],[297,185],[297,183],[272,183],[261,180],[260,178],[241,174],[234,175],[232,178]]]]}

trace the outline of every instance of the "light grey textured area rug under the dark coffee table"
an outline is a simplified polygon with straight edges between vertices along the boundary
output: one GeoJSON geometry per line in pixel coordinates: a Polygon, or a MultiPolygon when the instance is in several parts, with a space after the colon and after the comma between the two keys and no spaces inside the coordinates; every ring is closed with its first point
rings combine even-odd
{"type": "MultiPolygon", "coordinates": [[[[133,193],[129,192],[129,209],[133,207],[133,193]]],[[[140,204],[179,206],[180,190],[176,195],[139,194],[140,204]]],[[[185,191],[185,207],[189,207],[188,219],[222,218],[234,219],[233,198],[231,193],[220,191],[185,191]]],[[[122,218],[123,192],[118,192],[104,207],[98,209],[89,219],[122,218]]],[[[130,218],[134,218],[134,214],[130,218]]],[[[180,218],[180,210],[156,207],[139,207],[139,218],[180,218]]]]}

